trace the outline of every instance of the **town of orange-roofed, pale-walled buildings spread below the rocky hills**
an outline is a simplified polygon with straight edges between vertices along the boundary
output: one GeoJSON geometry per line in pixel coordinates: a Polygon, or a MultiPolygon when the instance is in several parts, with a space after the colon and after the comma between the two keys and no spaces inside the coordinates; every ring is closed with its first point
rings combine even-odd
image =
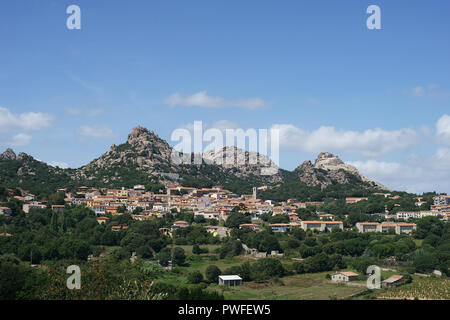
{"type": "MultiPolygon", "coordinates": [[[[66,205],[85,205],[92,209],[97,215],[98,223],[105,223],[109,220],[106,215],[117,215],[122,213],[131,213],[135,220],[153,219],[162,217],[171,212],[181,212],[190,210],[194,212],[195,217],[205,219],[227,220],[231,211],[235,207],[241,207],[242,212],[249,212],[254,221],[259,216],[266,213],[272,215],[287,215],[288,223],[274,223],[269,227],[273,232],[286,232],[293,227],[303,230],[331,231],[333,228],[344,229],[342,221],[334,221],[334,215],[329,213],[317,213],[317,219],[314,221],[301,221],[296,214],[298,208],[320,207],[322,202],[300,202],[296,199],[288,199],[286,202],[275,204],[271,200],[263,201],[257,198],[257,190],[253,188],[251,195],[237,195],[222,186],[213,186],[212,188],[191,188],[179,185],[167,185],[166,193],[146,192],[143,185],[136,185],[132,189],[108,189],[108,188],[89,188],[85,186],[78,187],[75,192],[68,192],[67,189],[58,189],[57,192],[65,195],[66,205]]],[[[399,196],[392,196],[389,193],[380,193],[384,197],[396,200],[399,196]]],[[[24,202],[23,211],[30,212],[32,209],[43,209],[47,207],[45,202],[36,201],[36,197],[29,193],[22,196],[15,196],[18,200],[24,202]]],[[[367,197],[348,197],[346,203],[352,204],[359,201],[368,200],[367,197]]],[[[388,220],[409,220],[418,219],[427,216],[437,216],[444,220],[450,217],[450,196],[439,195],[434,197],[434,204],[428,211],[400,211],[394,215],[385,214],[388,220]]],[[[416,205],[425,203],[421,197],[417,198],[416,205]]],[[[52,205],[52,210],[62,212],[64,205],[52,205]]],[[[11,210],[7,207],[0,207],[0,214],[10,214],[11,210]]],[[[177,221],[172,228],[163,230],[164,233],[171,234],[177,228],[187,227],[189,224],[185,221],[177,221]]],[[[257,223],[243,224],[240,228],[249,227],[253,231],[261,230],[261,225],[257,223]]],[[[394,229],[397,234],[410,233],[416,228],[415,224],[407,222],[361,222],[356,225],[359,232],[383,232],[394,229]]],[[[230,230],[223,226],[206,226],[207,231],[220,238],[229,235],[230,230]]],[[[124,228],[115,228],[114,231],[120,231],[124,228]]]]}

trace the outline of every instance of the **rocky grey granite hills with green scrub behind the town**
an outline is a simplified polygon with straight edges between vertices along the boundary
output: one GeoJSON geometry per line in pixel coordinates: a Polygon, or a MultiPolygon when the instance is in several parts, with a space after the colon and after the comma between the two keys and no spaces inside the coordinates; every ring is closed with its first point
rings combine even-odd
{"type": "MultiPolygon", "coordinates": [[[[205,152],[201,164],[176,164],[172,152],[174,149],[165,140],[143,127],[134,128],[125,143],[112,145],[102,156],[78,169],[55,168],[7,149],[0,155],[0,182],[37,194],[80,185],[117,188],[168,183],[193,187],[223,185],[236,193],[250,193],[252,187],[262,185],[281,190],[284,185],[294,188],[286,194],[303,187],[318,191],[336,186],[386,189],[330,153],[321,153],[314,165],[305,161],[290,172],[279,169],[266,156],[235,147],[205,152]],[[249,161],[253,158],[256,163],[249,161]],[[224,162],[225,159],[232,161],[224,162]],[[272,174],[264,174],[267,170],[272,174]]],[[[189,156],[193,159],[193,154],[189,156]]]]}

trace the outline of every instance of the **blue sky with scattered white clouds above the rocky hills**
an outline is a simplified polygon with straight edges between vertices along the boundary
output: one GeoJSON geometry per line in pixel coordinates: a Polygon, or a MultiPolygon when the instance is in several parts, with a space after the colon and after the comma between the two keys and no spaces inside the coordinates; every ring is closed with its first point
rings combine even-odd
{"type": "Polygon", "coordinates": [[[283,168],[450,192],[449,33],[446,0],[2,1],[0,149],[79,167],[136,125],[276,127],[283,168]]]}

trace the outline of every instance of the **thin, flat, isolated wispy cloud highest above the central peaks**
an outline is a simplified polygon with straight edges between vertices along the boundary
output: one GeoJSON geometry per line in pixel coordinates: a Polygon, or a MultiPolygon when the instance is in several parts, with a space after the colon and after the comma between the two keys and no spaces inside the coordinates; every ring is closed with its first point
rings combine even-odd
{"type": "Polygon", "coordinates": [[[226,100],[222,97],[208,96],[206,91],[195,93],[191,96],[182,97],[179,93],[174,93],[164,100],[164,103],[171,106],[203,107],[203,108],[223,108],[238,107],[245,109],[259,109],[268,106],[260,98],[226,100]]]}

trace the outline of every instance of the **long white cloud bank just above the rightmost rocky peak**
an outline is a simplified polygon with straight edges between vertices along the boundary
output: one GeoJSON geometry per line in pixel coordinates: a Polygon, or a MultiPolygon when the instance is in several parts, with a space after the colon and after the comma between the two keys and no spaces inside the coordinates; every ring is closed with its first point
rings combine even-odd
{"type": "Polygon", "coordinates": [[[309,132],[291,124],[274,124],[271,129],[279,130],[280,148],[301,152],[330,151],[376,157],[405,150],[419,142],[419,135],[412,129],[387,131],[376,128],[359,132],[322,126],[309,132]]]}

